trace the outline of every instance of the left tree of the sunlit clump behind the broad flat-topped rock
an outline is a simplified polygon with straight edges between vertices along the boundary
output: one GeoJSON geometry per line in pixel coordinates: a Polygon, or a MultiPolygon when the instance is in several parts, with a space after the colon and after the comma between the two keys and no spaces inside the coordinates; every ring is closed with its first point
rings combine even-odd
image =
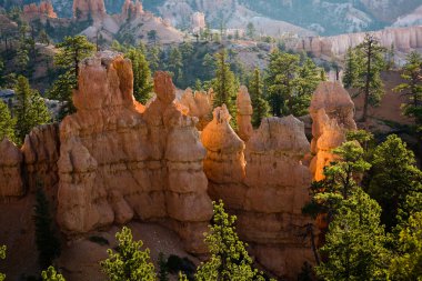
{"type": "Polygon", "coordinates": [[[289,116],[294,104],[294,78],[299,69],[300,57],[279,50],[270,54],[265,86],[273,116],[289,116]]]}

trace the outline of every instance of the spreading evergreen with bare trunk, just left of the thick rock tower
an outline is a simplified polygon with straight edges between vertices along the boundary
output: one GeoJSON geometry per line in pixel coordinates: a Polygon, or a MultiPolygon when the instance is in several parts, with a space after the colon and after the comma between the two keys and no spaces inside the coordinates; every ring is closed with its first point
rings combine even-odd
{"type": "Polygon", "coordinates": [[[79,63],[96,51],[96,46],[84,36],[66,37],[58,43],[59,52],[54,56],[54,63],[73,73],[74,88],[78,88],[79,63]]]}

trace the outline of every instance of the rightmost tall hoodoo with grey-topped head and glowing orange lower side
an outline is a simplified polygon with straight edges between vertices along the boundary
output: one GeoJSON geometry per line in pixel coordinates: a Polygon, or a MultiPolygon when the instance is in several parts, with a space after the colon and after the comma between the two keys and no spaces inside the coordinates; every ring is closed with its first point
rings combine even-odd
{"type": "Polygon", "coordinates": [[[345,141],[349,130],[356,130],[354,103],[336,82],[322,82],[312,96],[309,112],[312,117],[311,170],[314,180],[324,179],[323,169],[334,160],[331,152],[345,141]]]}

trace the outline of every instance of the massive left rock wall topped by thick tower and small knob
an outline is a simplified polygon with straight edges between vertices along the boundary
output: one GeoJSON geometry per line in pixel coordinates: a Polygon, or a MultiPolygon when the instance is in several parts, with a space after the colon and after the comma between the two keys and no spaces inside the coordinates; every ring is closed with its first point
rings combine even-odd
{"type": "Polygon", "coordinates": [[[81,63],[78,111],[60,126],[58,222],[78,234],[134,218],[165,221],[187,250],[203,252],[212,204],[197,120],[177,109],[169,74],[155,74],[154,90],[141,113],[129,60],[101,52],[81,63]]]}

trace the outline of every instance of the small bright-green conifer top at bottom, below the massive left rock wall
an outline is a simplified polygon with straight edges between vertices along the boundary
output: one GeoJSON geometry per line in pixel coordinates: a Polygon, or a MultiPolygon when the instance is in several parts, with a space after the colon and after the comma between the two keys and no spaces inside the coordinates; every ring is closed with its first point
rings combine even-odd
{"type": "Polygon", "coordinates": [[[110,281],[153,281],[157,278],[154,265],[150,262],[150,251],[142,251],[142,241],[133,241],[132,232],[123,227],[115,234],[119,241],[115,252],[109,249],[109,259],[102,261],[102,271],[110,281]]]}

